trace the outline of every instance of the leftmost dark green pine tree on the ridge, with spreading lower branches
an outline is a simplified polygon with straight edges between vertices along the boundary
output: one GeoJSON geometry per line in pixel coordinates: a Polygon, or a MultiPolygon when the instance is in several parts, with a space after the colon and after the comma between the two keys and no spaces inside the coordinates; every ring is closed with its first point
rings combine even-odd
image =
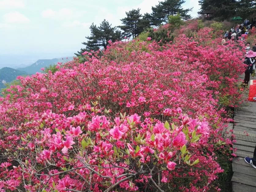
{"type": "Polygon", "coordinates": [[[106,49],[107,45],[109,44],[109,40],[114,42],[122,39],[121,31],[117,30],[116,27],[111,27],[111,24],[109,24],[109,22],[105,19],[101,22],[99,27],[92,23],[90,30],[91,36],[86,37],[88,41],[82,43],[86,46],[86,48],[81,48],[81,51],[77,51],[75,55],[81,56],[85,51],[97,51],[102,47],[106,49]]]}

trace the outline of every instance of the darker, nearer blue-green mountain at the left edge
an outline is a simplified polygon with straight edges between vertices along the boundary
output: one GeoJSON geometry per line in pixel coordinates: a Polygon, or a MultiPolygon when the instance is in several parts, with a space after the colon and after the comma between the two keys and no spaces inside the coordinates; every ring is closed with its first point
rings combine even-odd
{"type": "Polygon", "coordinates": [[[26,72],[13,69],[10,67],[4,67],[0,69],[0,89],[5,88],[5,83],[10,83],[18,76],[28,75],[26,72]]]}

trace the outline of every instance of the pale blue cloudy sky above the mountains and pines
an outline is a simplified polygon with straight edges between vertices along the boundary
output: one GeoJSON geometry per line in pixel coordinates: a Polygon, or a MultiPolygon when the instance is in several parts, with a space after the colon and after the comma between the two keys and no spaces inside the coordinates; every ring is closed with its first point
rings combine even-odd
{"type": "MultiPolygon", "coordinates": [[[[159,0],[0,0],[0,56],[25,64],[32,60],[73,56],[84,47],[89,26],[106,19],[121,25],[125,12],[141,9],[151,13],[159,0]],[[17,58],[18,56],[18,58],[17,58]],[[23,59],[21,59],[23,58],[23,59]],[[29,60],[29,61],[25,61],[29,60]],[[36,59],[37,58],[37,59],[36,59]]],[[[198,0],[187,0],[184,8],[197,16],[198,0]]],[[[0,57],[1,58],[1,57],[0,57]]],[[[7,65],[6,62],[1,65],[7,65]]],[[[12,63],[9,63],[13,65],[12,63]]]]}

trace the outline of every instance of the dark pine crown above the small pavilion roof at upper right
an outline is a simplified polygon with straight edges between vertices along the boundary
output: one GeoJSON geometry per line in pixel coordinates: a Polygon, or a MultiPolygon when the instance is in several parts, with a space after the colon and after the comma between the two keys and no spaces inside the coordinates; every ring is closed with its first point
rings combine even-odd
{"type": "Polygon", "coordinates": [[[199,0],[198,3],[201,5],[201,11],[198,13],[214,11],[215,17],[218,17],[219,20],[234,17],[238,8],[236,0],[199,0]]]}

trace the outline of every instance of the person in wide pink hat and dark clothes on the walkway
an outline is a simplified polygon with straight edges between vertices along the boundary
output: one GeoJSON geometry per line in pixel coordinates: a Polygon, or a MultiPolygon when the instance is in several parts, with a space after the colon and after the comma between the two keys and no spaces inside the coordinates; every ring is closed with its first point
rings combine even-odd
{"type": "Polygon", "coordinates": [[[247,64],[247,68],[245,70],[245,76],[244,76],[244,84],[248,85],[250,81],[250,73],[253,73],[253,65],[255,64],[255,57],[256,52],[254,51],[248,51],[248,53],[245,55],[245,64],[247,64]]]}

